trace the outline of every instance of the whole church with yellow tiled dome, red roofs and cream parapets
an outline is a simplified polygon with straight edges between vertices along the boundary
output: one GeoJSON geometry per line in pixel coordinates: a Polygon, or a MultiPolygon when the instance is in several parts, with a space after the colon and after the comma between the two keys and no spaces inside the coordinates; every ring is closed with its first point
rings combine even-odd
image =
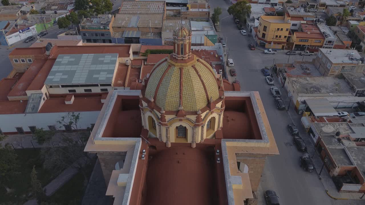
{"type": "MultiPolygon", "coordinates": [[[[244,92],[191,51],[173,53],[137,87],[109,92],[85,151],[97,153],[114,204],[253,205],[278,149],[258,92],[244,92]]],[[[157,57],[157,56],[155,56],[157,57]]]]}

